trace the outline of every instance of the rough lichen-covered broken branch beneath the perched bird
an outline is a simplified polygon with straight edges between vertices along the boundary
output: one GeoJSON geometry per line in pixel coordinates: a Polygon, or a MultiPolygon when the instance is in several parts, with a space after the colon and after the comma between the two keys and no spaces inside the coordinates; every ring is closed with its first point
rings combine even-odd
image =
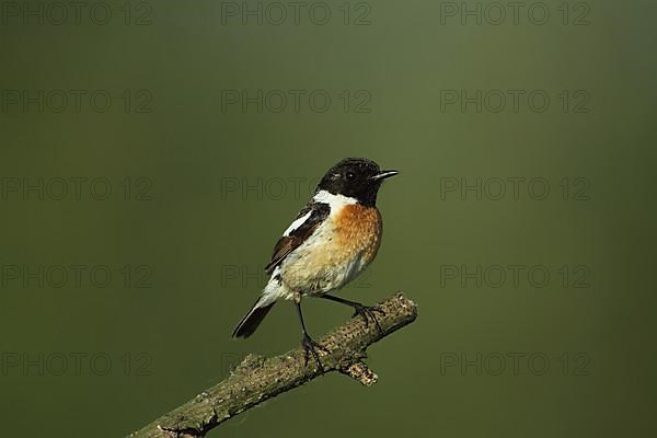
{"type": "MultiPolygon", "coordinates": [[[[378,307],[384,312],[376,313],[382,333],[372,321],[366,324],[362,318],[355,316],[320,341],[331,350],[330,354],[318,351],[325,372],[338,371],[365,385],[377,382],[378,376],[362,361],[366,348],[417,316],[417,307],[402,292],[378,307]]],[[[130,434],[130,437],[203,437],[227,419],[320,374],[312,356],[304,366],[302,348],[269,359],[249,355],[226,380],[130,434]]]]}

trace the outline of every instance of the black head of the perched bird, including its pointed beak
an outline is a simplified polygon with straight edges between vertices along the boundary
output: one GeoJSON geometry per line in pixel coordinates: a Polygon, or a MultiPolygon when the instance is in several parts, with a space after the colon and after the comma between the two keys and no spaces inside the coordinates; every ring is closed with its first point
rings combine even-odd
{"type": "Polygon", "coordinates": [[[348,196],[365,206],[373,207],[383,180],[397,173],[381,171],[377,163],[365,158],[346,158],[326,172],[318,185],[318,192],[348,196]]]}

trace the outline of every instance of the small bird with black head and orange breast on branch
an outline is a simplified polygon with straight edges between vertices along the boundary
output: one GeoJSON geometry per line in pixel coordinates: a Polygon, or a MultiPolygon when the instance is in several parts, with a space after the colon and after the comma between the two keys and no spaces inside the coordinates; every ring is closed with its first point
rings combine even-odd
{"type": "Polygon", "coordinates": [[[377,195],[383,181],[396,174],[399,171],[382,171],[376,162],[365,158],[346,158],[328,169],[310,201],[274,246],[265,266],[269,279],[234,328],[233,337],[251,336],[277,301],[292,301],[301,324],[304,366],[311,354],[323,372],[316,350],[330,351],[306,328],[301,311],[303,298],[319,297],[349,306],[354,315],[362,316],[366,324],[372,319],[381,331],[374,315],[374,312],[383,313],[381,309],[328,292],[351,281],[377,256],[383,231],[377,195]]]}

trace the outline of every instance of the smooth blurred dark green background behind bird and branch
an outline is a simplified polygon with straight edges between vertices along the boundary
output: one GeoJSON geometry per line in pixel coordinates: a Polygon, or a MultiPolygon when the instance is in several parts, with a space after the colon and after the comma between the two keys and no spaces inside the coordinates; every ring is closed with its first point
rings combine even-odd
{"type": "MultiPolygon", "coordinates": [[[[517,24],[507,9],[498,25],[486,15],[463,24],[433,1],[347,3],[348,25],[344,1],[326,3],[324,25],[309,20],[309,7],[299,24],[223,25],[216,1],[155,1],[150,11],[130,3],[126,25],[123,3],[107,4],[106,25],[89,8],[80,25],[72,12],[61,25],[2,15],[3,436],[124,436],[226,377],[245,354],[297,347],[289,303],[252,338],[230,333],[260,292],[280,232],[344,157],[402,174],[379,196],[378,258],[342,296],[373,303],[402,289],[419,318],[369,349],[376,387],[325,376],[209,437],[655,433],[654,2],[570,2],[564,24],[563,2],[549,1],[543,25],[529,20],[531,2],[517,24]],[[145,12],[150,24],[137,25],[145,12]],[[364,13],[369,24],[355,25],[364,13]],[[112,106],[99,112],[83,97],[79,112],[69,102],[57,113],[44,101],[39,113],[7,102],[39,90],[51,99],[53,90],[106,90],[112,106]],[[280,113],[223,111],[223,90],[322,90],[331,105],[321,113],[302,99],[298,112],[290,102],[280,113]],[[445,103],[446,90],[539,90],[550,106],[538,112],[521,97],[517,112],[510,102],[489,111],[496,101],[461,111],[445,103]],[[579,92],[567,111],[563,91],[579,92]],[[137,94],[148,104],[138,106],[137,94]],[[359,108],[369,111],[355,112],[362,95],[359,108]],[[586,111],[576,112],[581,96],[586,111]],[[58,177],[88,183],[79,200],[72,185],[61,200],[9,191],[39,177],[50,189],[58,177]],[[542,178],[550,193],[534,199],[525,183],[515,199],[509,177],[542,178]],[[90,195],[93,178],[111,183],[107,199],[90,195]],[[441,193],[461,178],[481,178],[481,199],[441,193]],[[507,181],[500,199],[497,178],[507,181]],[[84,266],[79,287],[71,278],[55,287],[46,274],[43,287],[12,277],[15,268],[38,277],[39,266],[53,274],[70,265],[84,266]],[[499,266],[510,275],[509,265],[523,266],[518,285],[507,277],[496,287],[487,275],[499,266]],[[91,283],[94,266],[112,273],[106,287],[91,283]],[[550,274],[545,286],[527,278],[532,266],[550,274]],[[447,275],[453,269],[463,281],[447,275]],[[81,357],[79,372],[71,355],[81,357]],[[517,372],[509,355],[520,355],[517,372]],[[497,372],[499,357],[506,368],[497,372]],[[544,372],[530,357],[550,360],[544,372]]],[[[480,4],[485,14],[488,3],[480,4]]],[[[306,308],[318,336],[350,314],[324,301],[306,308]]]]}

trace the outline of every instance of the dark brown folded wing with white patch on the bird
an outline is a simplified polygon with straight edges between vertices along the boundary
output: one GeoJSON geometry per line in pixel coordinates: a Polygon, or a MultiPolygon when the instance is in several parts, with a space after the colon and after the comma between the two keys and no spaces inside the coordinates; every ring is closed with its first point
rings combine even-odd
{"type": "Polygon", "coordinates": [[[297,215],[296,221],[307,215],[308,218],[289,232],[286,232],[287,235],[284,235],[278,240],[276,246],[274,246],[272,261],[265,266],[265,272],[272,274],[276,266],[280,265],[289,253],[299,247],[310,235],[312,235],[313,231],[328,217],[330,212],[331,207],[328,207],[328,204],[313,203],[303,207],[303,209],[299,211],[299,215],[297,215]]]}

